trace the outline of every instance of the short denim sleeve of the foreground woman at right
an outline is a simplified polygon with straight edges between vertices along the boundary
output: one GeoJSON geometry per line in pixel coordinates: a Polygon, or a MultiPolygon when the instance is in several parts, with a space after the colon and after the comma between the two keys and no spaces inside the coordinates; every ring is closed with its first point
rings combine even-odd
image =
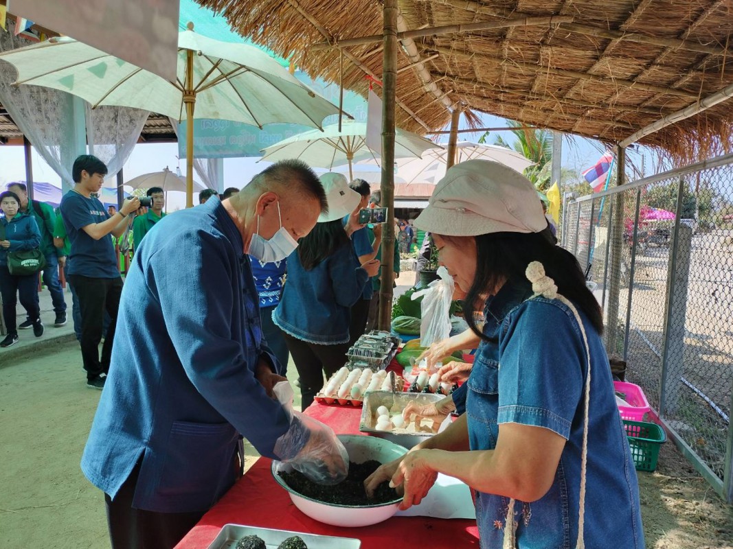
{"type": "Polygon", "coordinates": [[[570,438],[587,360],[572,312],[558,301],[531,299],[509,313],[502,332],[498,423],[545,427],[570,438]]]}

